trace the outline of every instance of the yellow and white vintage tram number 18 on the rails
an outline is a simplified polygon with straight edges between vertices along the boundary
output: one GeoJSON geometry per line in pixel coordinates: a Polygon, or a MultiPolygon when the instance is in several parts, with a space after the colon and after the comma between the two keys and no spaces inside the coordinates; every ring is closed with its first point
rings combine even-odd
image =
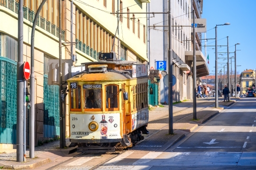
{"type": "Polygon", "coordinates": [[[68,79],[70,141],[78,152],[115,152],[148,134],[147,67],[131,61],[82,63],[68,79]]]}

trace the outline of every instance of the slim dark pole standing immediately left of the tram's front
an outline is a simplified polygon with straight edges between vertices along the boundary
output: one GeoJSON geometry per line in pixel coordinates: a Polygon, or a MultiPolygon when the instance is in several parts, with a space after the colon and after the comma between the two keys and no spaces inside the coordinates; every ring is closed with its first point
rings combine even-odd
{"type": "Polygon", "coordinates": [[[61,0],[59,0],[59,104],[60,104],[60,148],[64,148],[64,127],[63,127],[63,102],[61,99],[62,91],[62,53],[61,53],[61,0]]]}

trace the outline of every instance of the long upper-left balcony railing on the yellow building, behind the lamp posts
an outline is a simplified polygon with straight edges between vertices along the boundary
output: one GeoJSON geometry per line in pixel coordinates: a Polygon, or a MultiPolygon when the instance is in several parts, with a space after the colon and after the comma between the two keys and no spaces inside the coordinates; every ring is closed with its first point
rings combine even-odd
{"type": "MultiPolygon", "coordinates": [[[[5,8],[8,8],[9,10],[15,12],[18,14],[18,1],[14,0],[0,0],[0,6],[3,6],[5,8]]],[[[23,6],[23,17],[25,19],[28,19],[30,22],[34,22],[36,13],[27,8],[26,6],[23,6]]],[[[37,26],[40,26],[42,29],[46,30],[47,32],[59,37],[59,28],[55,26],[50,21],[47,21],[44,17],[38,16],[37,18],[37,26]],[[56,34],[55,34],[56,33],[56,34]]],[[[65,41],[65,31],[61,30],[61,39],[65,41]]]]}

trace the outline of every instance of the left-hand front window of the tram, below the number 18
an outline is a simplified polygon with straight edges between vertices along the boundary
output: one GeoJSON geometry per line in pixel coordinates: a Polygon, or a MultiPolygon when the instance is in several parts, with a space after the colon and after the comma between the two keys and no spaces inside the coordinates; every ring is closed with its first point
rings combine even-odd
{"type": "Polygon", "coordinates": [[[81,109],[81,85],[77,89],[71,89],[70,103],[71,109],[81,109]]]}

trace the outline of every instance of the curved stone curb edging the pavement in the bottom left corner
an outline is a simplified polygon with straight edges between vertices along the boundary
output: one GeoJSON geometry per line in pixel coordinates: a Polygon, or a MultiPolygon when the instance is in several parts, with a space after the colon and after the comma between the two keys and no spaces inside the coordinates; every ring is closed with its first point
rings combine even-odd
{"type": "Polygon", "coordinates": [[[49,158],[43,159],[41,161],[27,164],[27,165],[3,165],[3,169],[11,169],[11,170],[23,170],[23,169],[35,169],[40,167],[46,163],[49,163],[51,160],[49,158]]]}

